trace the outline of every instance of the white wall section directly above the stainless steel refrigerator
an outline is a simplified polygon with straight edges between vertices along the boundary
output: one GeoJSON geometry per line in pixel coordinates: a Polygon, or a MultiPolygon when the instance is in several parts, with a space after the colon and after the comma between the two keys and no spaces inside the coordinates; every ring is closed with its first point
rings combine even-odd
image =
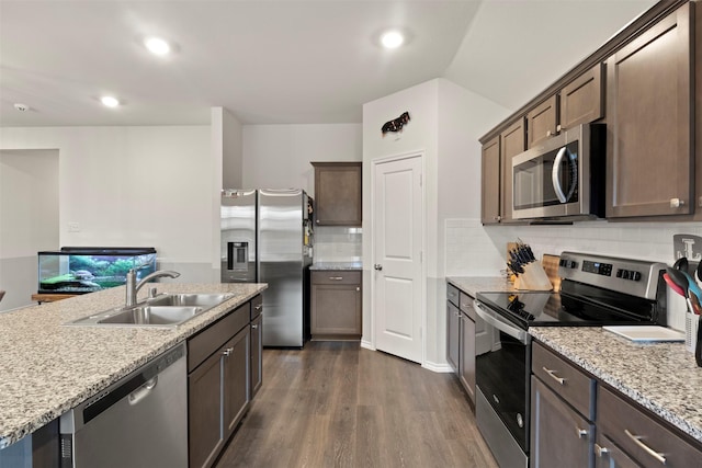
{"type": "Polygon", "coordinates": [[[312,161],[361,161],[360,124],[245,125],[242,189],[304,189],[314,197],[312,161]]]}

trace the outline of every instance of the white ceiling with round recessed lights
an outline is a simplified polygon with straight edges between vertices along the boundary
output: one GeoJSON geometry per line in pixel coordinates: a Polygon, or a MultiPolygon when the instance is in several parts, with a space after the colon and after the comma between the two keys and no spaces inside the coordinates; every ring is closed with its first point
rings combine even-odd
{"type": "Polygon", "coordinates": [[[438,77],[514,111],[654,3],[0,0],[0,126],[208,124],[213,106],[245,124],[360,123],[363,103],[438,77]],[[405,47],[376,45],[388,26],[405,47]],[[146,35],[176,53],[150,56],[146,35]]]}

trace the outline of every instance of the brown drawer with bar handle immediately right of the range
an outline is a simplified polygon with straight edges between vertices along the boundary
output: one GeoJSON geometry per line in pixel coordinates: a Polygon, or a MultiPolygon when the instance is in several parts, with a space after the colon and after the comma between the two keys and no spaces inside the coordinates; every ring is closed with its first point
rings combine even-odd
{"type": "Polygon", "coordinates": [[[593,378],[537,342],[532,346],[532,372],[580,414],[595,421],[593,378]]]}

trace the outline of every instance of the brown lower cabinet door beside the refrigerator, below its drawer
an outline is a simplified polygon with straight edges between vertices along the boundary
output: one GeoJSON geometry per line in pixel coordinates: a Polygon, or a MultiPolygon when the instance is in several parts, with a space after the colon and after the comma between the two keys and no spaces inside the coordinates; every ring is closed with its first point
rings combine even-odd
{"type": "Polygon", "coordinates": [[[313,279],[312,334],[361,334],[361,286],[359,284],[315,284],[313,279]]]}

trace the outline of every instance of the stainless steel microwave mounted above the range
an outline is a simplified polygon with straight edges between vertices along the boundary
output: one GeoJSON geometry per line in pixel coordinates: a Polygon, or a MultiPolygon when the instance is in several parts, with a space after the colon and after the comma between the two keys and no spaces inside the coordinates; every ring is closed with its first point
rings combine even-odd
{"type": "Polygon", "coordinates": [[[512,158],[512,217],[604,217],[607,128],[584,124],[512,158]]]}

